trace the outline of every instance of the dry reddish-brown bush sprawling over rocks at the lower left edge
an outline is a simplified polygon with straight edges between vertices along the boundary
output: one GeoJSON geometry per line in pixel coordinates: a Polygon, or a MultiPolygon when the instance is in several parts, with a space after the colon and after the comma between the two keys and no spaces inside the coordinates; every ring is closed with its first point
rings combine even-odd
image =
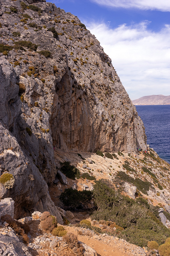
{"type": "Polygon", "coordinates": [[[29,238],[25,233],[29,232],[29,226],[28,224],[22,224],[18,222],[17,220],[14,220],[10,215],[5,214],[1,216],[1,220],[4,222],[6,221],[9,226],[22,237],[22,240],[25,244],[29,243],[29,238]]]}

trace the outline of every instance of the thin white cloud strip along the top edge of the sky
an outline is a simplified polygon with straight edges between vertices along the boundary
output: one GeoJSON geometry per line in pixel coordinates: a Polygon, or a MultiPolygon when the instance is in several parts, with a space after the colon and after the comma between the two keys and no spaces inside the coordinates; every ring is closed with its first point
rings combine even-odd
{"type": "Polygon", "coordinates": [[[99,5],[114,8],[139,8],[142,10],[170,11],[169,0],[91,0],[99,5]]]}

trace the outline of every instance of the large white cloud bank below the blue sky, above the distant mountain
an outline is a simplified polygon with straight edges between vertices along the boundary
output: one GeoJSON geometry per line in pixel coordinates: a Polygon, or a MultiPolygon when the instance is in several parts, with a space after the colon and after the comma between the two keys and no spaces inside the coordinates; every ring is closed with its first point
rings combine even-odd
{"type": "Polygon", "coordinates": [[[108,24],[86,27],[112,59],[132,100],[145,95],[170,95],[170,25],[159,32],[148,30],[148,21],[112,29],[108,24]]]}

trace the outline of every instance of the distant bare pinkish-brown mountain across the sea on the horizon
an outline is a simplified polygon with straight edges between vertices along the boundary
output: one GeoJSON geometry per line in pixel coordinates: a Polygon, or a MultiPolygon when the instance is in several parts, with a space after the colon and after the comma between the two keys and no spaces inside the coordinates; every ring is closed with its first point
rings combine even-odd
{"type": "Polygon", "coordinates": [[[149,95],[132,101],[134,105],[170,105],[170,95],[149,95]]]}

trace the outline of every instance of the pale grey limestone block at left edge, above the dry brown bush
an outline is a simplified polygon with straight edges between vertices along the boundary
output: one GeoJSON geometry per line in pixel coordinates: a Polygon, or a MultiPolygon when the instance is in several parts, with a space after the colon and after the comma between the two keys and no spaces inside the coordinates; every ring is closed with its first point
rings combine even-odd
{"type": "Polygon", "coordinates": [[[12,198],[4,198],[0,201],[0,217],[9,214],[12,218],[14,216],[14,201],[12,198]]]}

